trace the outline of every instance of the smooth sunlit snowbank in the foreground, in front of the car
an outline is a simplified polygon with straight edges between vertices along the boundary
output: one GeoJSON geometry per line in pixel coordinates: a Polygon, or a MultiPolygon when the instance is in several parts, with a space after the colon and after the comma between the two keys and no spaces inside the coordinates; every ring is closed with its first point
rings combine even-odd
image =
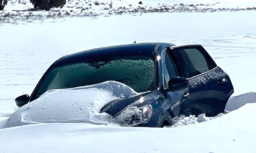
{"type": "Polygon", "coordinates": [[[255,103],[247,104],[208,122],[164,129],[82,123],[18,126],[0,130],[0,152],[255,152],[255,109],[255,103]]]}

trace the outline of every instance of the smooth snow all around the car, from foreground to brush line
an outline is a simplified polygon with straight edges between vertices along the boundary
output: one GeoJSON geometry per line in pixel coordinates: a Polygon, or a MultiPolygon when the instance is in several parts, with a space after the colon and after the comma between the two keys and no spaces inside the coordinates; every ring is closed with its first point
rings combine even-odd
{"type": "Polygon", "coordinates": [[[255,152],[255,16],[176,12],[2,22],[0,126],[17,109],[14,99],[31,94],[57,58],[133,41],[202,44],[229,74],[235,93],[229,114],[180,118],[173,128],[42,123],[0,129],[0,152],[255,152]]]}

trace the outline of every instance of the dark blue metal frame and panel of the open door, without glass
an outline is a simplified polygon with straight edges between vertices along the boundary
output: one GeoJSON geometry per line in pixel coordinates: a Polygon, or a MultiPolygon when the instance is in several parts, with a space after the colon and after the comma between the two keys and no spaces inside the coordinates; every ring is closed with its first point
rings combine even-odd
{"type": "Polygon", "coordinates": [[[208,67],[211,68],[188,78],[188,90],[184,93],[186,99],[180,103],[180,115],[206,114],[207,116],[216,116],[224,112],[227,99],[233,93],[231,80],[227,73],[214,63],[208,52],[201,45],[174,46],[170,49],[176,52],[175,54],[180,54],[180,50],[193,48],[200,50],[206,61],[210,61],[208,62],[208,67]]]}

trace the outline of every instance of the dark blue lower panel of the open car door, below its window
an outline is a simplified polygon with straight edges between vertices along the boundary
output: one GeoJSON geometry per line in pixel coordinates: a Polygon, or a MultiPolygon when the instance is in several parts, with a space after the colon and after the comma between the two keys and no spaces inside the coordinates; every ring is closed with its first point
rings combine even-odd
{"type": "Polygon", "coordinates": [[[216,116],[220,112],[224,112],[227,99],[233,93],[233,86],[227,82],[219,84],[219,80],[228,78],[226,73],[216,67],[212,71],[208,71],[203,75],[198,75],[189,79],[189,97],[186,102],[181,105],[180,114],[206,114],[207,116],[216,116]],[[207,109],[206,109],[207,108],[207,109]],[[215,112],[209,112],[212,108],[215,112]]]}

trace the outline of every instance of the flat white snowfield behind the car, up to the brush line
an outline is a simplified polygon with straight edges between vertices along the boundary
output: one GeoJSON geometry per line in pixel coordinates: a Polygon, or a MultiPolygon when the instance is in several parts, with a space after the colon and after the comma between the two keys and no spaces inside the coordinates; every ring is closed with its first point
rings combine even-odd
{"type": "Polygon", "coordinates": [[[5,24],[0,27],[0,103],[5,105],[0,112],[14,112],[14,99],[31,94],[57,58],[135,40],[203,44],[229,74],[235,88],[233,96],[255,92],[256,18],[253,16],[256,12],[162,13],[5,24]]]}

